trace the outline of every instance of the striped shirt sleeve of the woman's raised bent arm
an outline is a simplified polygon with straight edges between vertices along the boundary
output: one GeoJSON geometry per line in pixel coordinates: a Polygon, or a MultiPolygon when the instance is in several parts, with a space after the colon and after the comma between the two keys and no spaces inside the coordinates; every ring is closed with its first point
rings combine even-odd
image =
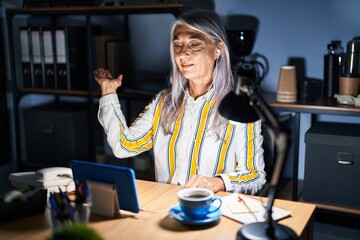
{"type": "Polygon", "coordinates": [[[104,128],[107,142],[118,158],[135,156],[153,146],[154,111],[162,94],[145,107],[134,123],[128,127],[117,94],[100,98],[98,120],[104,128]]]}

